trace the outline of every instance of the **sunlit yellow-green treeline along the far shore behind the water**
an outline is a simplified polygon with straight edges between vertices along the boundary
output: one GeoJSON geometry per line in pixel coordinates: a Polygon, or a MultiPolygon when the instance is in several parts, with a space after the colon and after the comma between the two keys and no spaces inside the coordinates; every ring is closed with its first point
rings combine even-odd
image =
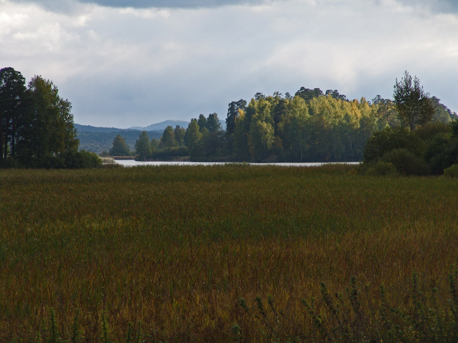
{"type": "MultiPolygon", "coordinates": [[[[431,118],[448,123],[456,118],[436,97],[431,118]]],[[[337,90],[301,87],[294,96],[256,93],[249,103],[228,105],[226,130],[216,113],[201,114],[187,129],[167,127],[160,140],[137,140],[137,160],[174,159],[189,155],[193,161],[337,162],[361,161],[374,132],[402,126],[392,100],[348,100],[337,90]],[[148,144],[147,144],[148,143],[148,144]]]]}

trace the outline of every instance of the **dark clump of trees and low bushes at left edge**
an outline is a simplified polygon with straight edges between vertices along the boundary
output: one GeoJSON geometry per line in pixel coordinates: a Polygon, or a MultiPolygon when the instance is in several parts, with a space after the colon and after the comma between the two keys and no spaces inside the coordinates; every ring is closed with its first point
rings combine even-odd
{"type": "Polygon", "coordinates": [[[72,105],[52,81],[27,85],[13,68],[0,70],[0,167],[89,167],[97,155],[78,151],[72,105]]]}

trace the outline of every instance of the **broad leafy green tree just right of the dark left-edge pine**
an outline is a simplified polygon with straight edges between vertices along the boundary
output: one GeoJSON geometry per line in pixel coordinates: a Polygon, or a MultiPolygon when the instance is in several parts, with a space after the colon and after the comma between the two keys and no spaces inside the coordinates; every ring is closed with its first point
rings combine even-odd
{"type": "Polygon", "coordinates": [[[71,103],[41,76],[32,78],[27,93],[31,107],[22,113],[17,130],[18,159],[25,166],[65,167],[65,160],[72,159],[79,145],[71,103]]]}

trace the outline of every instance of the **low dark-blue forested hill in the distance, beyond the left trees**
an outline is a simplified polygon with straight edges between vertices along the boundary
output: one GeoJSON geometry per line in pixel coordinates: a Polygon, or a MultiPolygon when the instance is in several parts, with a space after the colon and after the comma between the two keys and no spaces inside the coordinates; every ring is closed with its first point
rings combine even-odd
{"type": "MultiPolygon", "coordinates": [[[[121,135],[131,150],[135,150],[135,142],[140,130],[93,127],[75,124],[76,137],[79,139],[79,148],[96,153],[109,151],[116,136],[121,135]]],[[[164,130],[147,131],[150,140],[159,139],[164,130]]]]}

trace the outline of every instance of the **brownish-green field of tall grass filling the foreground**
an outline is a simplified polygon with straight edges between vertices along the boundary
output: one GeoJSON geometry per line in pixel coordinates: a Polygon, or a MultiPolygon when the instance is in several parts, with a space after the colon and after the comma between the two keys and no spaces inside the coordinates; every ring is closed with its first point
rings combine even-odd
{"type": "Polygon", "coordinates": [[[458,183],[0,170],[0,341],[456,341],[458,183]]]}

